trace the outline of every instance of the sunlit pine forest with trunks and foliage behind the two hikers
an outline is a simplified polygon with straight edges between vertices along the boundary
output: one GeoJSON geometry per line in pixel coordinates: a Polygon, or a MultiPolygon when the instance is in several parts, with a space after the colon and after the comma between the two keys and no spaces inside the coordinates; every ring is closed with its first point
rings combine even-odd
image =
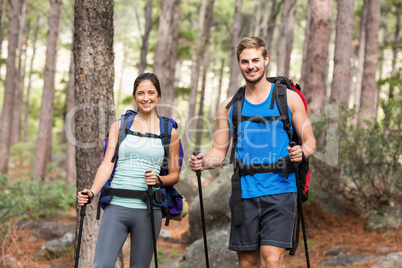
{"type": "MultiPolygon", "coordinates": [[[[218,105],[244,85],[235,49],[250,36],[267,45],[266,76],[306,97],[317,140],[308,209],[322,196],[362,219],[401,208],[401,13],[402,0],[0,0],[0,263],[32,261],[12,238],[24,222],[73,213],[76,235],[77,191],[112,123],[136,109],[141,73],[160,80],[158,113],[178,122],[184,148],[180,183],[196,189],[188,158],[211,148],[218,105]]],[[[93,265],[94,203],[82,267],[93,265]]]]}

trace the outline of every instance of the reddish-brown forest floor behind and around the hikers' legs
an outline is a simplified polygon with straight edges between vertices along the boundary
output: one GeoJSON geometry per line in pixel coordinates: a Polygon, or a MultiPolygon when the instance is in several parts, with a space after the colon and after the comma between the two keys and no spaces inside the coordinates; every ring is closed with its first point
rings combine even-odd
{"type": "MultiPolygon", "coordinates": [[[[74,214],[75,210],[71,210],[70,216],[57,217],[54,223],[74,223],[76,220],[74,214]]],[[[314,208],[310,208],[305,214],[311,267],[321,267],[324,260],[333,258],[326,256],[326,253],[334,248],[342,249],[340,256],[377,256],[372,261],[347,266],[355,268],[371,267],[380,257],[391,252],[402,251],[401,231],[384,234],[369,233],[364,230],[367,219],[357,216],[357,213],[353,209],[349,209],[349,213],[345,217],[318,212],[314,208]]],[[[160,267],[168,267],[169,265],[167,264],[169,261],[177,260],[190,245],[188,241],[188,217],[184,218],[182,222],[171,221],[168,227],[163,225],[162,228],[171,234],[171,238],[160,238],[158,241],[159,254],[162,254],[160,267]]],[[[9,228],[7,237],[4,240],[8,241],[8,243],[7,245],[4,242],[2,243],[2,251],[3,253],[6,251],[8,254],[13,255],[19,261],[19,265],[16,264],[13,267],[52,267],[52,264],[60,263],[65,264],[62,267],[73,266],[73,248],[62,252],[57,257],[39,256],[38,249],[46,241],[39,238],[33,239],[32,237],[34,236],[30,235],[29,230],[21,229],[17,226],[9,228]]],[[[129,250],[128,246],[124,247],[124,267],[129,267],[129,250]]],[[[5,258],[0,260],[0,267],[8,267],[5,262],[5,258]]],[[[287,255],[285,257],[285,266],[287,268],[306,267],[302,239],[299,243],[296,256],[287,255]]]]}

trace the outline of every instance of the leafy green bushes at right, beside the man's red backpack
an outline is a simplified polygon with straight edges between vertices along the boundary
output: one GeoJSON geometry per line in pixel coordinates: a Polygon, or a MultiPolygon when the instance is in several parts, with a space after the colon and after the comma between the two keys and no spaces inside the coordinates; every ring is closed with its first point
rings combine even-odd
{"type": "MultiPolygon", "coordinates": [[[[382,102],[386,111],[380,121],[351,124],[353,110],[341,112],[338,120],[338,165],[332,167],[312,159],[312,183],[361,208],[377,210],[402,204],[402,98],[382,102]]],[[[317,151],[325,152],[329,119],[314,124],[317,151]]],[[[313,190],[314,191],[314,190],[313,190]]]]}

